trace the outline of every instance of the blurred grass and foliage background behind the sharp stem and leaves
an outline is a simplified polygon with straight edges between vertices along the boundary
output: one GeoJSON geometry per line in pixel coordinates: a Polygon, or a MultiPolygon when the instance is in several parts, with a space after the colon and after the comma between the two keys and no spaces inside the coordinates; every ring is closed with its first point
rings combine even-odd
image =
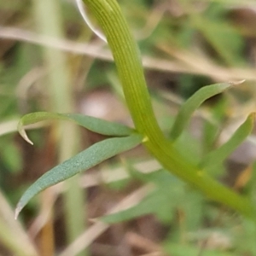
{"type": "MultiPolygon", "coordinates": [[[[166,134],[195,90],[246,79],[195,113],[183,154],[201,158],[254,111],[255,2],[119,3],[142,51],[166,134]]],[[[131,118],[108,47],[84,25],[73,1],[0,1],[0,22],[1,255],[256,254],[255,225],[207,201],[140,147],[47,189],[15,221],[12,209],[30,183],[102,140],[56,122],[31,127],[32,147],[17,135],[20,116],[76,112],[127,125],[131,118]],[[106,217],[108,224],[98,221],[111,212],[121,214],[106,217]]],[[[243,194],[252,192],[254,151],[251,135],[212,175],[243,194]]]]}

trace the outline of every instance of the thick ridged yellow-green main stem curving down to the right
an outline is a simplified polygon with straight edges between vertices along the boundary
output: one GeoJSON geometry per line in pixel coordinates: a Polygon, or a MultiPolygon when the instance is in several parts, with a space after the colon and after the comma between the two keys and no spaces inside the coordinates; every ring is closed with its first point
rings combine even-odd
{"type": "MultiPolygon", "coordinates": [[[[119,72],[134,125],[145,137],[144,145],[168,171],[243,215],[254,217],[251,202],[212,179],[184,159],[160,131],[150,102],[140,53],[116,0],[84,0],[102,27],[119,72]]],[[[184,147],[185,150],[185,147],[184,147]]]]}

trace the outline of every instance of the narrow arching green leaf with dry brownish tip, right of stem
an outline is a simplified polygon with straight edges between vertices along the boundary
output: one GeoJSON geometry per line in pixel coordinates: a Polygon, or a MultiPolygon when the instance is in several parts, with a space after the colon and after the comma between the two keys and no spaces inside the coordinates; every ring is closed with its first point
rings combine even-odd
{"type": "Polygon", "coordinates": [[[200,90],[196,91],[195,94],[191,96],[186,102],[184,102],[183,106],[177,113],[177,117],[172,126],[172,131],[170,134],[172,141],[175,141],[177,137],[181,135],[185,126],[188,125],[192,114],[195,112],[196,108],[200,107],[201,103],[205,102],[210,97],[223,92],[231,85],[233,84],[224,83],[204,86],[200,90]]]}

